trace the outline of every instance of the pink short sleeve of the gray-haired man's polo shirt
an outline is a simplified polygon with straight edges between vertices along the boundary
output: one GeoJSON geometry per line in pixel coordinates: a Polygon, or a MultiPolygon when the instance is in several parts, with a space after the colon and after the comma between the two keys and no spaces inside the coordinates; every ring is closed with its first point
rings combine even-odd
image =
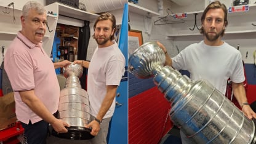
{"type": "Polygon", "coordinates": [[[7,62],[6,71],[12,89],[23,91],[34,89],[33,65],[26,55],[12,55],[7,62]]]}

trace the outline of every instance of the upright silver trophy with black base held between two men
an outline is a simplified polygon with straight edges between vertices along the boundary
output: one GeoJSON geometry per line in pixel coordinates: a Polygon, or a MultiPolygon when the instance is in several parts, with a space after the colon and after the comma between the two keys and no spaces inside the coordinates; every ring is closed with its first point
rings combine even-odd
{"type": "Polygon", "coordinates": [[[81,65],[73,63],[63,68],[66,85],[60,91],[57,118],[67,122],[70,127],[66,127],[67,133],[53,132],[57,137],[72,140],[86,140],[94,137],[90,135],[91,129],[84,127],[90,121],[90,105],[88,94],[86,90],[81,89],[79,81],[82,71],[81,65]]]}

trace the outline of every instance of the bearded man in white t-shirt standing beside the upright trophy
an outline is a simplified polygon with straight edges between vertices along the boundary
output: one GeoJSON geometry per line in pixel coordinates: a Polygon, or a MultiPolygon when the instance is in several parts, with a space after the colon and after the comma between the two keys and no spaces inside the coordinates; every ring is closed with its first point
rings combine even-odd
{"type": "Polygon", "coordinates": [[[74,63],[88,68],[87,92],[90,101],[92,127],[90,134],[97,135],[91,143],[106,143],[108,126],[116,105],[116,90],[124,74],[125,58],[114,41],[116,18],[105,12],[94,24],[93,38],[98,46],[90,62],[76,60],[74,63]]]}

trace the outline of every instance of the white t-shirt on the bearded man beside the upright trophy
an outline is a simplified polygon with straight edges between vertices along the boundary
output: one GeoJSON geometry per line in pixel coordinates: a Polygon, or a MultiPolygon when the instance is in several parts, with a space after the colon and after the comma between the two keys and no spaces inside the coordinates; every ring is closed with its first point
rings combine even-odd
{"type": "MultiPolygon", "coordinates": [[[[119,86],[122,75],[124,74],[125,58],[118,44],[104,48],[96,48],[88,68],[88,86],[87,92],[90,101],[90,114],[97,116],[100,111],[103,99],[106,95],[106,86],[119,86]]],[[[108,112],[103,117],[110,118],[113,116],[116,99],[108,112]]]]}

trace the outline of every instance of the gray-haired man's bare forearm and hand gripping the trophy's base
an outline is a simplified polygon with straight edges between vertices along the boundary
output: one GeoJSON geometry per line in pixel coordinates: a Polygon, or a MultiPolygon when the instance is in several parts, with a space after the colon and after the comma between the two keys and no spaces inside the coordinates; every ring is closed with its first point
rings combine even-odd
{"type": "Polygon", "coordinates": [[[44,121],[49,122],[49,124],[52,125],[56,132],[68,132],[68,130],[65,128],[65,126],[68,126],[68,124],[60,119],[55,118],[53,114],[50,113],[49,110],[47,110],[44,103],[42,103],[41,100],[36,97],[36,95],[34,94],[34,90],[22,91],[19,92],[19,94],[22,98],[22,102],[28,105],[28,107],[34,113],[44,119],[44,121]]]}

